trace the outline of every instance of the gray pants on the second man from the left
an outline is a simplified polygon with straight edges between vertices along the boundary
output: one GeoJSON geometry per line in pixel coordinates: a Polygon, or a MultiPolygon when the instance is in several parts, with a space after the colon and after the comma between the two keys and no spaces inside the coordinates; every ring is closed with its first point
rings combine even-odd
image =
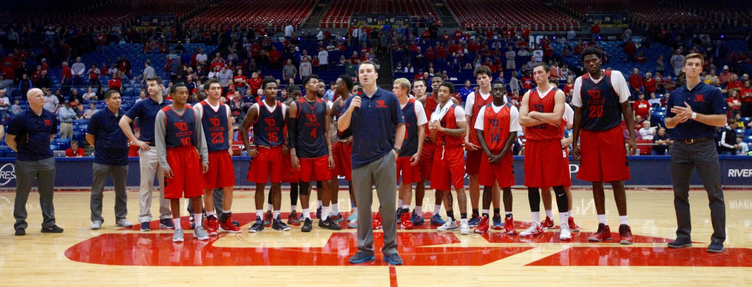
{"type": "Polygon", "coordinates": [[[128,165],[100,165],[94,164],[94,180],[92,183],[91,204],[89,204],[92,216],[91,220],[105,221],[102,217],[102,192],[105,190],[107,178],[112,175],[112,182],[115,186],[115,222],[117,219],[125,219],[128,215],[128,195],[126,195],[126,179],[128,178],[128,165]]]}

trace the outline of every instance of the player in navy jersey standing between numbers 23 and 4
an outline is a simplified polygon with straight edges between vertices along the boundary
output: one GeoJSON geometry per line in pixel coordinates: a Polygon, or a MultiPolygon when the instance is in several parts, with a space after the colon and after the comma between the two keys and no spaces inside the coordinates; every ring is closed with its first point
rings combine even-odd
{"type": "Polygon", "coordinates": [[[243,144],[249,151],[248,155],[253,157],[253,161],[248,170],[247,180],[256,183],[256,222],[248,228],[248,232],[259,232],[264,230],[262,220],[264,212],[264,189],[266,182],[271,182],[271,202],[274,208],[272,214],[271,228],[280,231],[290,230],[280,218],[280,208],[282,205],[282,180],[285,176],[284,157],[284,126],[285,113],[287,106],[277,101],[277,80],[274,78],[265,78],[261,84],[264,91],[264,100],[253,104],[248,109],[248,113],[243,119],[243,127],[253,125],[253,144],[255,148],[250,147],[248,140],[247,128],[241,128],[241,138],[243,144]]]}

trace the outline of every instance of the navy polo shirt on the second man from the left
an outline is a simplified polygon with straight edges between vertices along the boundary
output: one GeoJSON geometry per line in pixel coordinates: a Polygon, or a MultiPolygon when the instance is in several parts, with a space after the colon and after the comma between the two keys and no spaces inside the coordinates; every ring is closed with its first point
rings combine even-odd
{"type": "Polygon", "coordinates": [[[89,119],[86,134],[94,136],[94,163],[99,165],[128,165],[128,137],[117,125],[126,111],[117,116],[109,108],[94,113],[89,119]]]}

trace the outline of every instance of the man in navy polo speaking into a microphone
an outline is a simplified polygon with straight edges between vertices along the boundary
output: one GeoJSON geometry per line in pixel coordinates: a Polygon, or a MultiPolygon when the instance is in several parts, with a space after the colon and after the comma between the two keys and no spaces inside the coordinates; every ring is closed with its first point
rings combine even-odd
{"type": "Polygon", "coordinates": [[[365,61],[358,68],[364,95],[356,95],[345,103],[347,111],[337,122],[339,131],[353,131],[353,192],[359,204],[358,252],[350,263],[375,260],[371,204],[376,195],[381,204],[384,226],[384,261],[402,264],[397,254],[396,182],[397,156],[405,140],[405,118],[397,96],[376,86],[378,73],[373,62],[365,61]],[[362,224],[365,222],[365,224],[362,224]]]}

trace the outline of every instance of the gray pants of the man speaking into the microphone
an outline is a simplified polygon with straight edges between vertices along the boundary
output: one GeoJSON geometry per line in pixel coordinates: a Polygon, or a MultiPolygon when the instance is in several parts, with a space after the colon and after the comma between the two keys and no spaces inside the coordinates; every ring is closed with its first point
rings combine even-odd
{"type": "Polygon", "coordinates": [[[353,169],[353,192],[358,202],[358,250],[365,255],[374,255],[374,231],[371,226],[371,204],[376,186],[381,208],[381,224],[384,226],[384,256],[397,252],[396,197],[397,159],[393,152],[374,162],[353,169]]]}

